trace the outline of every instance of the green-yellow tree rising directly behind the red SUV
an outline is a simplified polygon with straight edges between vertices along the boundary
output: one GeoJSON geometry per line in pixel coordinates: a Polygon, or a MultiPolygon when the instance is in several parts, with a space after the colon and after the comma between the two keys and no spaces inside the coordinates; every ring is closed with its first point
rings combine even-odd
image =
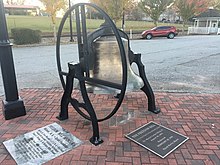
{"type": "Polygon", "coordinates": [[[154,22],[157,26],[157,21],[160,15],[169,8],[173,0],[141,0],[140,7],[154,22]]]}

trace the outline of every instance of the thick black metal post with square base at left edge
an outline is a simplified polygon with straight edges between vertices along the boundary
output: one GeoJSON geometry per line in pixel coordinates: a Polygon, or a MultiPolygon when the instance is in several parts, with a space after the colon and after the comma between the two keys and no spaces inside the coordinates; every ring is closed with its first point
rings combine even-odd
{"type": "Polygon", "coordinates": [[[0,0],[0,64],[5,90],[3,114],[6,120],[26,115],[23,100],[18,96],[12,44],[9,41],[3,0],[0,0]]]}

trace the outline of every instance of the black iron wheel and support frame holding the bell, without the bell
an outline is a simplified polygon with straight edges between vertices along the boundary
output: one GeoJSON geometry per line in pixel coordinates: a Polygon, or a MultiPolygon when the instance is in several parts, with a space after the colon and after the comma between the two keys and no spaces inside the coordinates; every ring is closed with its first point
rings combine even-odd
{"type": "MultiPolygon", "coordinates": [[[[109,28],[108,27],[108,28],[109,28]]],[[[66,120],[68,119],[68,104],[71,103],[71,105],[74,107],[74,109],[85,119],[88,119],[92,122],[93,127],[93,136],[90,138],[90,142],[94,145],[99,145],[103,142],[99,136],[99,126],[98,122],[107,120],[111,118],[119,109],[124,95],[126,91],[126,85],[127,85],[127,62],[126,62],[126,54],[124,50],[124,46],[122,43],[121,37],[127,38],[129,41],[128,36],[123,32],[116,28],[113,21],[110,19],[110,17],[98,6],[90,3],[79,3],[74,6],[72,6],[64,15],[60,27],[58,30],[57,35],[57,45],[56,45],[56,58],[57,58],[57,66],[58,66],[58,72],[60,76],[60,80],[62,83],[62,86],[64,88],[64,94],[61,99],[61,111],[59,116],[57,117],[59,120],[66,120]],[[91,55],[90,45],[89,43],[93,42],[94,39],[96,39],[98,36],[102,34],[102,29],[98,29],[91,35],[87,35],[87,28],[86,28],[86,17],[85,17],[85,6],[90,6],[96,9],[98,12],[100,12],[103,17],[105,18],[105,21],[111,28],[112,34],[116,37],[116,40],[118,42],[121,60],[122,60],[122,84],[112,83],[109,81],[104,81],[100,79],[90,78],[89,75],[89,56],[91,55]],[[61,66],[61,59],[60,59],[60,39],[62,34],[62,29],[64,26],[64,23],[66,19],[68,18],[68,15],[71,14],[71,12],[75,10],[76,14],[76,30],[77,30],[77,41],[78,41],[78,52],[79,52],[79,63],[68,63],[69,71],[68,73],[62,71],[61,66]],[[64,76],[66,76],[66,83],[64,81],[64,76]],[[81,94],[84,100],[84,103],[79,103],[78,100],[71,97],[72,91],[73,91],[73,83],[74,78],[79,80],[80,90],[81,94]],[[115,89],[120,90],[120,94],[118,95],[118,101],[112,110],[110,114],[108,114],[106,117],[98,119],[95,113],[95,110],[91,104],[91,101],[88,97],[87,90],[85,84],[87,83],[93,83],[98,85],[103,85],[115,89]],[[83,108],[87,111],[87,114],[82,112],[80,108],[83,108]]],[[[148,110],[152,111],[153,113],[159,113],[160,110],[156,108],[155,106],[155,98],[153,91],[150,87],[150,84],[147,81],[145,71],[144,71],[144,65],[141,62],[141,54],[134,54],[129,47],[129,60],[130,63],[135,62],[139,69],[140,77],[144,81],[144,87],[141,88],[141,90],[147,95],[148,97],[148,110]]]]}

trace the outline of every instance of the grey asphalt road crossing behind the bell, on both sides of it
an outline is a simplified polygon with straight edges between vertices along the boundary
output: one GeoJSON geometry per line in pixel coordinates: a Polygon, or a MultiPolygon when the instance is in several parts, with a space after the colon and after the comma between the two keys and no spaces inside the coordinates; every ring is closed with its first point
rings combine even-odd
{"type": "MultiPolygon", "coordinates": [[[[220,36],[177,36],[132,40],[142,54],[148,80],[155,91],[220,93],[220,36]]],[[[55,46],[13,47],[18,88],[61,87],[55,46]]],[[[63,67],[78,61],[77,45],[62,45],[63,67]]],[[[0,77],[0,94],[4,94],[0,77]]]]}

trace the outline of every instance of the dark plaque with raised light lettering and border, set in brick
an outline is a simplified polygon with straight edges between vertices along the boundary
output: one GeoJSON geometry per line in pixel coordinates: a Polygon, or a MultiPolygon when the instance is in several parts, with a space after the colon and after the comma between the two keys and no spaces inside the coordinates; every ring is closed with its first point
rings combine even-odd
{"type": "Polygon", "coordinates": [[[140,146],[165,158],[189,138],[154,122],[125,135],[140,146]]]}

